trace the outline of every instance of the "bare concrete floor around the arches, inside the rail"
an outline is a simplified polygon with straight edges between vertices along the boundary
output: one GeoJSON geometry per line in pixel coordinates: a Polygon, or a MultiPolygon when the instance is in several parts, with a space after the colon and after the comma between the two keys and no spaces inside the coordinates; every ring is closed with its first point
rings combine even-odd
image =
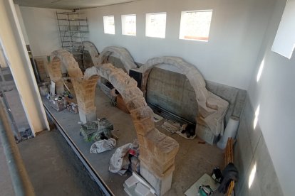
{"type": "MultiPolygon", "coordinates": [[[[114,134],[118,136],[117,147],[123,146],[125,143],[132,142],[136,137],[133,121],[129,114],[125,114],[120,109],[113,107],[100,89],[96,90],[96,108],[98,118],[106,117],[114,124],[114,134]]],[[[123,182],[128,176],[120,176],[108,171],[110,157],[115,152],[106,151],[100,154],[90,154],[89,149],[92,143],[83,140],[79,136],[79,116],[69,111],[56,111],[50,107],[48,100],[43,97],[43,102],[46,104],[51,114],[58,119],[68,136],[78,146],[83,156],[86,157],[88,163],[92,165],[96,173],[103,179],[106,185],[115,195],[125,195],[123,190],[123,182]]],[[[160,125],[158,123],[157,125],[160,125]]],[[[184,192],[194,184],[204,173],[210,174],[215,166],[223,167],[222,151],[216,146],[209,144],[198,143],[200,139],[187,140],[177,134],[169,132],[157,127],[159,131],[175,138],[180,143],[180,151],[177,153],[175,160],[175,172],[172,178],[172,188],[166,195],[184,195],[184,192]]]]}

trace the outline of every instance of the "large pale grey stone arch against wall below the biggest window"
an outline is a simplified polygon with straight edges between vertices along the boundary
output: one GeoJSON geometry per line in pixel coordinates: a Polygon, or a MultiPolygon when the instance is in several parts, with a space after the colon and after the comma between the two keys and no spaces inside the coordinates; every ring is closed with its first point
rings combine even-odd
{"type": "MultiPolygon", "coordinates": [[[[172,65],[177,67],[186,75],[192,87],[195,89],[198,114],[197,124],[209,127],[214,135],[223,134],[224,116],[229,107],[229,103],[206,89],[206,83],[197,68],[177,57],[159,57],[148,60],[145,65],[139,68],[143,72],[142,91],[146,92],[148,75],[153,67],[160,64],[172,65]]],[[[197,126],[197,129],[199,129],[197,126]]]]}

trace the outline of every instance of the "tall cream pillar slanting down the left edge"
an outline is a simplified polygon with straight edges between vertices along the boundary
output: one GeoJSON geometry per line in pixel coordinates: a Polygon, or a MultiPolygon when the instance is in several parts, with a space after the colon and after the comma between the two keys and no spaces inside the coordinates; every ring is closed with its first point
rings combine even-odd
{"type": "Polygon", "coordinates": [[[24,36],[12,0],[0,0],[0,44],[19,91],[33,134],[49,130],[46,113],[38,92],[24,36]]]}

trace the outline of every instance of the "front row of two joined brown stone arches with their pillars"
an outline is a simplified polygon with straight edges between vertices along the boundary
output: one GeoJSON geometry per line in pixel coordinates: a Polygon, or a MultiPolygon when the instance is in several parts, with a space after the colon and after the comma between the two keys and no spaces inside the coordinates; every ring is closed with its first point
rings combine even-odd
{"type": "MultiPolygon", "coordinates": [[[[140,170],[145,170],[142,175],[155,187],[157,195],[162,195],[169,190],[179,144],[155,128],[153,111],[145,102],[137,82],[122,69],[111,64],[89,67],[83,75],[73,55],[65,50],[53,51],[51,59],[51,65],[55,65],[54,60],[58,62],[56,67],[59,65],[60,68],[61,62],[65,64],[76,92],[80,119],[84,123],[92,118],[92,120],[96,119],[94,96],[99,76],[105,77],[120,92],[130,111],[140,144],[140,170]],[[157,180],[151,180],[150,175],[153,176],[152,179],[157,180]],[[159,183],[159,180],[165,180],[165,183],[159,183]]],[[[54,79],[61,80],[59,76],[61,75],[57,75],[54,79]]]]}

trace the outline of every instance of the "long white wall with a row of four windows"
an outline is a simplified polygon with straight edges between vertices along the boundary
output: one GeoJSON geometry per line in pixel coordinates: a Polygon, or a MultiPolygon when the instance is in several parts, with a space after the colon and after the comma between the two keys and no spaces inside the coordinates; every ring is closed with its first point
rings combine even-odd
{"type": "Polygon", "coordinates": [[[86,9],[90,41],[98,50],[127,48],[135,61],[174,55],[196,65],[205,80],[247,89],[274,0],[143,0],[86,9]],[[213,9],[209,42],[179,40],[181,11],[213,9]],[[145,13],[167,12],[166,38],[145,37],[145,13]],[[137,36],[123,36],[122,14],[137,15],[137,36]],[[103,16],[115,16],[115,35],[103,33],[103,16]]]}

